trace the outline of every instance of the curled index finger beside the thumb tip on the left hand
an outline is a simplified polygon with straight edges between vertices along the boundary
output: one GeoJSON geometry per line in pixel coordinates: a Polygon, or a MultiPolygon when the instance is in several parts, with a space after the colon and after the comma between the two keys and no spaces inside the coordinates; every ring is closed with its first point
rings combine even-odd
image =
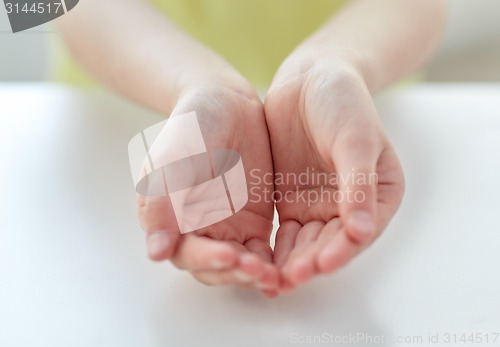
{"type": "Polygon", "coordinates": [[[231,244],[197,235],[184,235],[171,258],[179,269],[225,270],[238,263],[239,252],[231,244]]]}

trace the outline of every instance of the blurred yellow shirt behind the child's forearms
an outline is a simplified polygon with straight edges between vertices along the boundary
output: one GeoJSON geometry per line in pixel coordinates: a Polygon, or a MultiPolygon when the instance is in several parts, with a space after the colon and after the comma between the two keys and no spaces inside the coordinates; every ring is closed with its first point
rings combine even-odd
{"type": "MultiPolygon", "coordinates": [[[[345,0],[150,0],[159,11],[229,61],[254,85],[269,85],[281,62],[345,0]]],[[[93,84],[63,49],[56,79],[93,84]]]]}

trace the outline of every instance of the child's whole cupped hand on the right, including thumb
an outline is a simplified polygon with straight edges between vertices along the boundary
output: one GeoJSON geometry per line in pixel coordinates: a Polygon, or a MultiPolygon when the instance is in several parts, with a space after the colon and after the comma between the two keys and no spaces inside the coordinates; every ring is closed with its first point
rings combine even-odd
{"type": "Polygon", "coordinates": [[[274,257],[281,289],[291,290],[373,242],[401,202],[404,178],[370,93],[349,64],[288,62],[265,111],[280,193],[274,257]]]}

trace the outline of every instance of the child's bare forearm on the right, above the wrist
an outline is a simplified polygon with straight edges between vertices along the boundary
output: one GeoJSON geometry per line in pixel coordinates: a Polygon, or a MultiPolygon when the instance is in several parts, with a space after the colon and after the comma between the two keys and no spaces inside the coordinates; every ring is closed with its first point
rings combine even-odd
{"type": "Polygon", "coordinates": [[[292,57],[347,61],[376,92],[425,62],[445,12],[446,0],[352,0],[292,57]]]}

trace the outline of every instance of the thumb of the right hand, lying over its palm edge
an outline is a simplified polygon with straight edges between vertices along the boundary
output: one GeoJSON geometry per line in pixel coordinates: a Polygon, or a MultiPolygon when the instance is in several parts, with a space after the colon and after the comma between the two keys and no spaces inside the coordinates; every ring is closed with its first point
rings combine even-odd
{"type": "Polygon", "coordinates": [[[341,192],[340,215],[347,235],[358,243],[368,241],[376,232],[376,167],[380,152],[376,136],[359,130],[344,132],[333,148],[341,192]]]}

